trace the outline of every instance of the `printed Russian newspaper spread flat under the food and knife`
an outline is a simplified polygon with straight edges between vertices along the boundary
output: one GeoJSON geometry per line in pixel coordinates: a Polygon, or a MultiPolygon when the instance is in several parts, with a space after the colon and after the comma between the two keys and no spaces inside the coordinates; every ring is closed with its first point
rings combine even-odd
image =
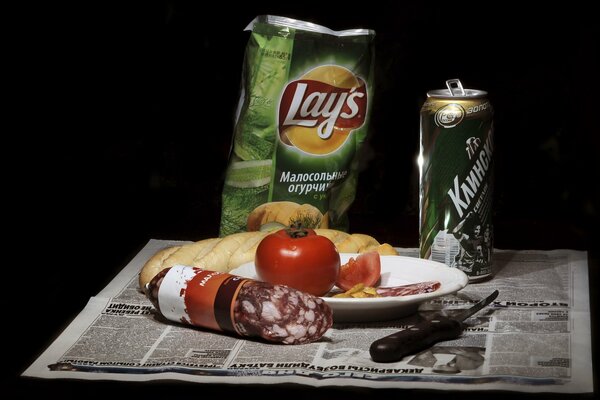
{"type": "MultiPolygon", "coordinates": [[[[297,383],[311,386],[593,391],[586,252],[494,254],[495,276],[422,303],[419,314],[464,309],[493,290],[492,305],[468,320],[464,334],[395,363],[376,363],[370,344],[409,327],[396,321],[334,324],[316,343],[267,344],[155,318],[137,274],[161,248],[151,240],[23,373],[41,378],[199,383],[297,383]]],[[[417,256],[416,249],[399,249],[417,256]]]]}

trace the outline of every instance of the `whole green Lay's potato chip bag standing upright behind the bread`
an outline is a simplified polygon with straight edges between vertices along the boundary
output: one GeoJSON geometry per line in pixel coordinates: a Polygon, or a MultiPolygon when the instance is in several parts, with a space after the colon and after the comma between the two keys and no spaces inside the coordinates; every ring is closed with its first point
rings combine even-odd
{"type": "Polygon", "coordinates": [[[296,223],[347,230],[372,108],[375,32],[271,15],[246,30],[220,235],[296,223]]]}

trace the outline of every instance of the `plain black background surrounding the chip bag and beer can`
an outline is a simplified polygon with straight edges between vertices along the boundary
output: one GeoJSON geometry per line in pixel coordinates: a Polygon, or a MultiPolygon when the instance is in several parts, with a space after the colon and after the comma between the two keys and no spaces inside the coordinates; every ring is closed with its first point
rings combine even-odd
{"type": "MultiPolygon", "coordinates": [[[[18,222],[7,225],[12,255],[35,274],[26,289],[8,284],[27,309],[7,321],[12,334],[35,337],[17,339],[16,362],[3,373],[17,391],[99,389],[17,376],[150,238],[217,235],[243,28],[259,14],[377,32],[371,140],[351,231],[418,245],[419,108],[428,90],[460,78],[487,90],[495,107],[496,247],[594,255],[600,146],[590,10],[392,1],[29,10],[19,17],[35,34],[16,49],[16,145],[3,162],[6,197],[20,210],[7,215],[18,222]]],[[[594,272],[593,301],[595,283],[594,272]]]]}

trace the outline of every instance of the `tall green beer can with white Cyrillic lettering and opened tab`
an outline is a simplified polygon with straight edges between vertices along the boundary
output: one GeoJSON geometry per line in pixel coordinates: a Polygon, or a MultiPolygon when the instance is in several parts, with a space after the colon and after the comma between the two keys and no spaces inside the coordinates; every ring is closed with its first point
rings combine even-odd
{"type": "Polygon", "coordinates": [[[479,281],[493,273],[493,109],[487,92],[446,85],[421,108],[420,256],[479,281]]]}

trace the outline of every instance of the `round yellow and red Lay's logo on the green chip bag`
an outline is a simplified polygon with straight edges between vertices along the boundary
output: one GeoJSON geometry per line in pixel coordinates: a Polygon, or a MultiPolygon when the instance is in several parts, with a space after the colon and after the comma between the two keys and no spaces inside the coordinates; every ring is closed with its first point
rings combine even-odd
{"type": "Polygon", "coordinates": [[[364,124],[366,114],[365,81],[338,65],[319,66],[285,87],[279,136],[306,153],[328,154],[364,124]]]}

